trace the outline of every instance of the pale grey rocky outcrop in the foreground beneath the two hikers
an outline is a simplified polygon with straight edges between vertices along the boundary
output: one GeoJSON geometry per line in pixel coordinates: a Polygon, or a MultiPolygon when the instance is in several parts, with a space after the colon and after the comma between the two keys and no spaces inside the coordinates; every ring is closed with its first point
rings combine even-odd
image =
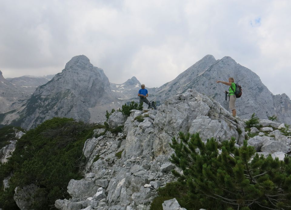
{"type": "MultiPolygon", "coordinates": [[[[109,126],[120,124],[121,117],[113,113],[109,126]]],[[[169,162],[173,153],[169,143],[179,131],[199,132],[204,141],[212,136],[218,141],[235,136],[237,146],[244,139],[242,121],[211,98],[187,90],[166,100],[158,110],[132,110],[117,136],[107,132],[88,139],[83,149],[88,160],[84,179],[71,180],[68,192],[72,199],[57,200],[55,206],[63,210],[149,209],[156,189],[175,180],[170,172],[175,166],[169,162]],[[135,120],[137,116],[144,120],[135,120]],[[122,153],[120,159],[118,153],[122,153]]]]}

